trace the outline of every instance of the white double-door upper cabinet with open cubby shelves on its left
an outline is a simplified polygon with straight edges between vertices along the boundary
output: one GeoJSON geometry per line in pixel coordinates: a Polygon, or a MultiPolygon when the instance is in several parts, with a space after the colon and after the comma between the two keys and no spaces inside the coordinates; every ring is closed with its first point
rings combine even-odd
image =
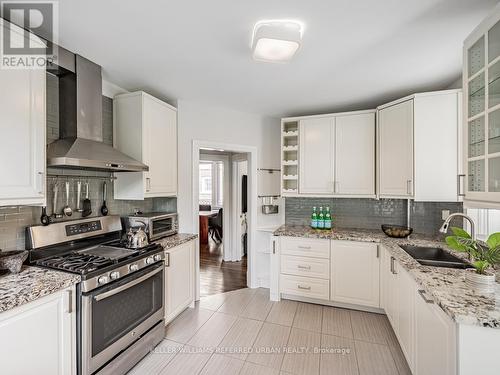
{"type": "Polygon", "coordinates": [[[282,130],[284,196],[375,197],[375,111],[283,119],[282,130]]]}

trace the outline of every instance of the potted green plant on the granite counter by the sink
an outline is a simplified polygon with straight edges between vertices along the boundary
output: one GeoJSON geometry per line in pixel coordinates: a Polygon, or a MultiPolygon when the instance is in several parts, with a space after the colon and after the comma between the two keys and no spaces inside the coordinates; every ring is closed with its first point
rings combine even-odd
{"type": "Polygon", "coordinates": [[[466,270],[465,282],[478,292],[491,293],[495,289],[495,274],[489,268],[500,264],[500,233],[493,233],[486,242],[474,240],[462,228],[451,228],[453,236],[446,244],[453,250],[466,253],[474,268],[466,270]]]}

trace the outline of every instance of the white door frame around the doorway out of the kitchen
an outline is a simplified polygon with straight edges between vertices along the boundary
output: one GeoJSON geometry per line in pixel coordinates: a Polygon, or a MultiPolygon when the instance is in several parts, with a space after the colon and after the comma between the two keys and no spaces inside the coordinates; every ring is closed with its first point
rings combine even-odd
{"type": "MultiPolygon", "coordinates": [[[[216,150],[224,150],[227,152],[235,153],[246,153],[248,154],[248,212],[247,212],[247,223],[248,223],[248,252],[247,252],[247,286],[250,288],[257,288],[257,280],[255,277],[256,269],[256,251],[255,248],[255,229],[257,228],[257,161],[258,161],[258,151],[257,147],[222,143],[222,142],[212,142],[212,141],[202,141],[193,140],[192,143],[192,165],[191,165],[191,176],[192,176],[192,197],[191,202],[193,205],[193,228],[195,233],[200,233],[200,223],[199,223],[199,171],[198,165],[200,163],[200,149],[201,148],[213,148],[216,150]]],[[[195,288],[195,300],[200,299],[200,251],[199,251],[199,241],[197,241],[197,251],[195,257],[196,264],[196,288],[195,288]]]]}

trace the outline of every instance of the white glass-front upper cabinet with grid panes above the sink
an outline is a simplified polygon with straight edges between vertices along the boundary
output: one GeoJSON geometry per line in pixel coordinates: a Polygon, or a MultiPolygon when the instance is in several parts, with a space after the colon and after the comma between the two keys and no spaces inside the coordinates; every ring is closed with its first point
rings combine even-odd
{"type": "Polygon", "coordinates": [[[466,200],[500,202],[500,8],[464,43],[466,200]]]}

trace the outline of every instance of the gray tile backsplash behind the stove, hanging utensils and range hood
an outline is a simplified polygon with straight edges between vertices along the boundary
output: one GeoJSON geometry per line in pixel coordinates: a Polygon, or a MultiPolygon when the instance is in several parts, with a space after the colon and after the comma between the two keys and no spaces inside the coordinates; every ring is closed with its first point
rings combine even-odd
{"type": "MultiPolygon", "coordinates": [[[[57,91],[57,79],[47,76],[47,143],[51,143],[59,138],[59,98],[57,91]]],[[[102,97],[103,100],[103,140],[107,144],[113,144],[113,100],[102,97]]],[[[76,206],[77,181],[86,182],[85,176],[110,176],[106,172],[81,171],[69,169],[49,168],[48,174],[63,174],[70,177],[70,206],[76,206]]],[[[59,194],[57,199],[57,211],[61,212],[65,205],[64,182],[66,178],[58,179],[59,194]]],[[[92,215],[100,215],[102,204],[102,183],[103,180],[89,179],[89,197],[92,202],[92,215]]],[[[47,180],[47,213],[52,213],[52,188],[56,181],[52,178],[47,180]]],[[[82,197],[85,192],[82,186],[82,197]]],[[[109,213],[114,215],[125,215],[134,212],[135,209],[141,211],[162,211],[176,212],[177,198],[149,198],[143,201],[114,200],[113,183],[108,181],[108,198],[106,205],[109,213]]],[[[0,207],[0,250],[24,249],[24,230],[29,225],[40,223],[41,208],[30,206],[0,207]]],[[[80,214],[74,212],[68,219],[80,218],[80,214]]]]}

